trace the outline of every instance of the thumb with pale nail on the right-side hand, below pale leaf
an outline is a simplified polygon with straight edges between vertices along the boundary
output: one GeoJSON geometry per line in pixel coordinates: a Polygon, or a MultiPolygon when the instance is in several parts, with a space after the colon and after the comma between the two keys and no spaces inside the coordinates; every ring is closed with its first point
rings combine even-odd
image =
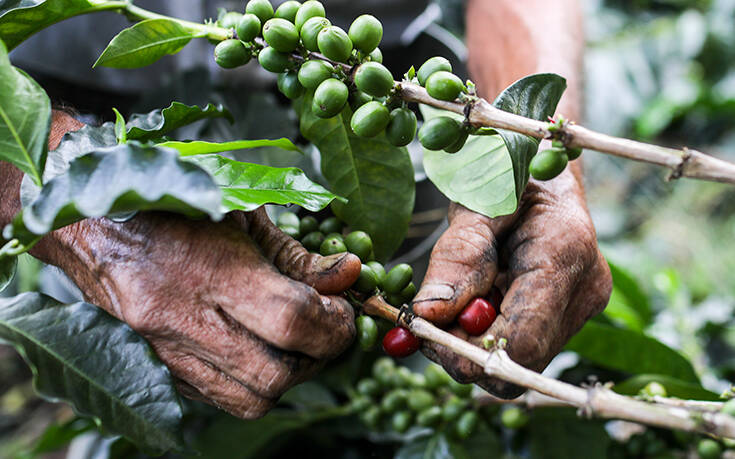
{"type": "Polygon", "coordinates": [[[513,220],[512,216],[490,219],[454,206],[449,229],[431,252],[414,311],[431,322],[447,324],[472,298],[487,294],[498,272],[496,236],[513,220]]]}

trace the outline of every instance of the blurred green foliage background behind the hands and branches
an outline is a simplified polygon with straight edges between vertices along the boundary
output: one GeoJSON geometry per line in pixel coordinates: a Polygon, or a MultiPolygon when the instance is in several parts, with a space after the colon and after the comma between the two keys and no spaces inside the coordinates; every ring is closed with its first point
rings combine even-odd
{"type": "MultiPolygon", "coordinates": [[[[735,161],[735,0],[586,0],[583,4],[587,31],[584,124],[608,134],[688,145],[735,161]]],[[[423,19],[417,19],[416,36],[384,51],[394,74],[405,70],[399,65],[407,60],[419,64],[417,54],[454,53],[455,60],[461,61],[463,51],[456,37],[462,35],[462,17],[459,0],[432,3],[423,19]],[[446,49],[438,49],[439,43],[446,49]]],[[[236,78],[212,79],[207,71],[193,71],[172,78],[166,88],[141,95],[128,108],[143,111],[165,106],[172,99],[223,102],[237,124],[198,125],[189,136],[298,138],[285,100],[272,90],[269,80],[262,85],[269,90],[231,91],[237,86],[236,78]]],[[[110,113],[109,109],[89,112],[103,117],[110,113]]],[[[298,159],[299,167],[316,174],[314,162],[308,159],[268,150],[249,154],[250,160],[272,165],[298,159]]],[[[728,390],[728,381],[735,379],[735,188],[668,182],[659,168],[593,152],[584,158],[588,202],[600,244],[618,268],[605,320],[643,331],[680,351],[706,389],[728,390]]],[[[419,165],[420,160],[415,163],[419,165]]],[[[422,178],[420,167],[417,178],[422,178]]],[[[432,201],[428,210],[439,204],[441,199],[432,201]]],[[[415,219],[409,239],[416,240],[403,251],[418,263],[430,248],[420,241],[430,242],[438,234],[444,216],[441,212],[422,215],[433,219],[415,219]],[[430,227],[422,229],[427,221],[430,227]],[[417,252],[416,247],[421,250],[417,252]]],[[[73,287],[59,281],[52,269],[24,256],[14,291],[34,290],[39,284],[60,299],[75,295],[73,287]]],[[[487,413],[482,430],[462,449],[452,449],[450,444],[437,449],[419,437],[366,432],[354,417],[345,419],[340,407],[346,399],[344,388],[354,384],[357,375],[369,372],[374,358],[360,352],[344,356],[318,383],[299,386],[284,397],[287,410],[257,422],[242,422],[187,403],[190,440],[203,448],[207,458],[295,452],[301,457],[391,457],[396,452],[400,457],[488,457],[491,452],[508,457],[687,457],[696,445],[692,436],[588,422],[561,409],[535,410],[527,427],[510,431],[501,427],[500,408],[495,407],[487,413]]],[[[418,357],[408,362],[414,369],[425,365],[418,357]]],[[[601,381],[625,377],[571,351],[560,355],[548,373],[574,383],[585,382],[590,374],[601,381]]],[[[30,376],[12,349],[0,347],[0,457],[139,454],[125,441],[102,437],[67,406],[37,398],[30,376]]]]}

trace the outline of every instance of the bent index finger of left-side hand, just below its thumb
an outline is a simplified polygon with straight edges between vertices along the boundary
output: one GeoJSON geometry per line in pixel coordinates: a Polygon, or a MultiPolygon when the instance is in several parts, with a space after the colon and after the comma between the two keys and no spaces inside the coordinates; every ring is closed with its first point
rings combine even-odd
{"type": "Polygon", "coordinates": [[[268,269],[229,261],[208,304],[217,304],[245,328],[272,344],[315,359],[341,353],[355,336],[354,311],[346,300],[321,296],[301,282],[268,269]],[[260,286],[260,288],[253,288],[260,286]]]}

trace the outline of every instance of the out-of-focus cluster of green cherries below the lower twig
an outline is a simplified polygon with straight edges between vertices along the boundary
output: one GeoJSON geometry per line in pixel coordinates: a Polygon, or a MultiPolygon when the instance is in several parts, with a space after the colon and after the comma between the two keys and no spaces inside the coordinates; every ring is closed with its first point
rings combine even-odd
{"type": "Polygon", "coordinates": [[[373,364],[372,377],[357,383],[350,405],[373,430],[432,427],[465,439],[479,422],[471,394],[471,384],[455,382],[438,365],[414,373],[382,357],[373,364]]]}

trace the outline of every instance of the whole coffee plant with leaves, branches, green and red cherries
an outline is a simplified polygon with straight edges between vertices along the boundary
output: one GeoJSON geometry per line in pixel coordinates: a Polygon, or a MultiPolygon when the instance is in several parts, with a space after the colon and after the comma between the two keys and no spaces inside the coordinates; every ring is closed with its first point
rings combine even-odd
{"type": "MultiPolygon", "coordinates": [[[[555,116],[566,86],[558,75],[525,77],[492,104],[479,98],[474,83],[462,81],[441,56],[413,63],[418,70],[408,64],[396,81],[382,63],[382,35],[381,22],[369,14],[357,17],[347,31],[333,25],[316,0],[287,1],[277,9],[268,0],[250,0],[240,11],[222,11],[216,20],[202,23],[159,15],[128,1],[0,2],[0,160],[25,174],[23,210],[2,232],[0,290],[11,283],[21,254],[46,234],[85,218],[125,219],[159,210],[219,221],[228,212],[263,205],[298,206],[299,212],[277,215],[281,231],[309,251],[325,256],[351,252],[362,262],[359,278],[343,293],[357,312],[359,350],[348,357],[357,363],[342,378],[339,397],[325,395],[314,383],[287,394],[284,403],[305,406],[310,413],[290,421],[274,413],[254,422],[273,423],[267,424],[272,432],[256,443],[298,426],[356,417],[360,435],[402,441],[401,457],[462,455],[462,448],[481,449],[473,444],[486,451],[495,448],[483,441],[497,441],[498,429],[522,439],[549,421],[544,410],[563,404],[588,417],[658,428],[630,435],[619,455],[648,457],[678,445],[695,448],[700,457],[718,457],[731,446],[727,437],[735,437],[732,402],[705,390],[691,363],[671,348],[642,333],[591,321],[567,348],[632,376],[612,388],[561,383],[512,362],[502,339],[488,338],[485,349],[469,349],[414,317],[410,304],[418,280],[410,265],[390,260],[414,207],[414,171],[406,146],[415,139],[436,187],[488,217],[513,213],[530,177],[552,180],[580,157],[583,147],[669,167],[674,178],[735,183],[735,166],[693,150],[606,138],[555,116]],[[191,40],[205,39],[224,69],[260,65],[277,74],[278,91],[292,101],[301,134],[321,155],[325,185],[297,168],[221,155],[264,146],[303,152],[286,138],[218,143],[169,137],[196,121],[232,119],[227,109],[212,104],[174,101],[127,120],[115,111],[114,123],[69,133],[48,151],[51,102],[10,63],[8,53],[51,24],[101,11],[124,14],[135,23],[109,43],[95,66],[143,67],[179,52],[191,40]],[[552,142],[539,152],[543,138],[552,142]],[[487,374],[534,392],[501,408],[499,400],[455,382],[433,364],[413,371],[388,357],[376,360],[369,352],[381,335],[391,357],[407,358],[422,340],[436,341],[483,366],[487,374]],[[608,356],[600,348],[618,353],[608,356]],[[534,400],[533,394],[546,397],[534,400]],[[320,397],[324,403],[319,406],[306,400],[320,397]]],[[[622,271],[615,280],[630,284],[622,271]]],[[[497,289],[487,298],[475,298],[459,315],[459,324],[469,335],[481,335],[502,314],[501,303],[497,289]]],[[[82,418],[120,436],[121,457],[130,448],[186,452],[182,432],[211,414],[196,412],[201,407],[185,412],[170,373],[147,343],[93,305],[61,304],[40,293],[0,299],[0,338],[32,367],[40,394],[68,402],[82,418]]],[[[568,412],[564,416],[566,425],[599,434],[598,421],[579,420],[568,412]]]]}

